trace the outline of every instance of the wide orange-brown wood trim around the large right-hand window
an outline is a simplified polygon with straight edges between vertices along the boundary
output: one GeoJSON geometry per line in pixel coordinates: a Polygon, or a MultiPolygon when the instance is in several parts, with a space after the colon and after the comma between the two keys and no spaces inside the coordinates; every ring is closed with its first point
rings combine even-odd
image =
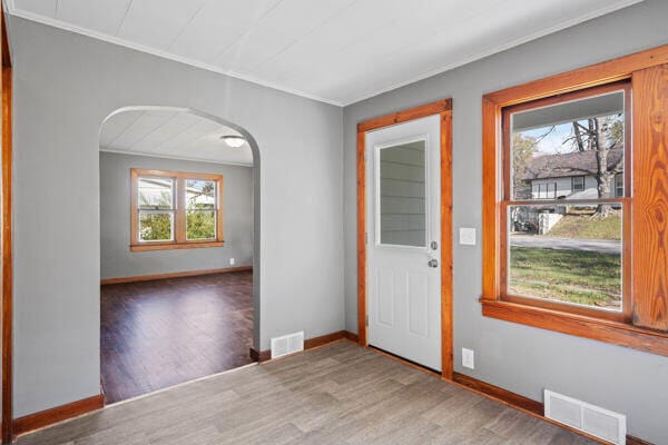
{"type": "MultiPolygon", "coordinates": [[[[661,160],[668,156],[668,147],[662,142],[668,122],[659,119],[668,116],[668,82],[664,80],[667,72],[668,46],[662,46],[483,97],[483,277],[480,301],[484,316],[668,356],[668,296],[661,288],[661,283],[668,281],[668,240],[660,238],[657,221],[668,219],[665,206],[657,205],[668,199],[661,191],[666,190],[668,179],[660,170],[661,160]],[[571,93],[572,99],[573,95],[587,95],[595,87],[619,88],[617,82],[620,81],[630,82],[632,89],[630,103],[633,111],[627,112],[627,119],[632,119],[633,134],[629,136],[632,137],[633,164],[627,161],[625,167],[627,196],[611,200],[629,200],[630,204],[630,196],[633,197],[632,208],[625,207],[629,209],[626,211],[629,224],[625,225],[623,234],[625,239],[630,240],[623,249],[633,264],[625,264],[622,278],[625,289],[627,286],[629,289],[625,295],[632,301],[625,305],[626,312],[621,316],[606,319],[599,312],[590,314],[579,308],[566,312],[564,305],[550,301],[537,305],[531,299],[532,304],[527,305],[523,298],[503,299],[501,210],[504,189],[498,180],[505,177],[503,109],[523,107],[536,100],[558,101],[564,93],[571,93]],[[631,231],[631,221],[636,227],[646,228],[631,231]],[[648,246],[651,246],[650,255],[648,246]]],[[[626,150],[630,147],[631,144],[626,144],[626,150]]],[[[628,151],[625,156],[631,159],[628,151]]]]}

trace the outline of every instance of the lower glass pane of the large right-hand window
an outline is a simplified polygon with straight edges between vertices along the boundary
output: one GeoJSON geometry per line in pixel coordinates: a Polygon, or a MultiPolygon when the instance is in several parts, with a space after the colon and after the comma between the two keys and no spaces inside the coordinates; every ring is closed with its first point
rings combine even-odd
{"type": "Polygon", "coordinates": [[[605,206],[510,206],[508,294],[621,310],[622,207],[605,206]]]}

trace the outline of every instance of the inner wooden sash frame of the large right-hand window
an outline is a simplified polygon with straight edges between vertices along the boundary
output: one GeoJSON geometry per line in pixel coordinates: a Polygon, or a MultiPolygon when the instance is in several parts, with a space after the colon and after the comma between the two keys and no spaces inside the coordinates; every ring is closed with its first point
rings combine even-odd
{"type": "MultiPolygon", "coordinates": [[[[510,267],[508,265],[508,260],[509,260],[509,248],[510,248],[510,244],[509,244],[509,239],[508,239],[508,209],[511,206],[523,206],[523,205],[538,205],[538,206],[546,206],[546,205],[554,205],[554,206],[563,206],[564,201],[561,199],[557,198],[557,182],[553,182],[554,186],[554,192],[553,192],[553,198],[550,198],[550,186],[552,186],[552,182],[549,181],[547,178],[546,179],[546,186],[547,186],[547,191],[546,191],[546,198],[541,198],[540,194],[539,197],[537,199],[531,199],[531,200],[515,200],[512,197],[512,172],[511,172],[511,166],[512,166],[512,154],[511,154],[511,141],[512,141],[512,129],[511,129],[511,116],[513,113],[517,112],[521,112],[521,111],[529,111],[529,110],[534,110],[534,109],[540,109],[540,108],[546,108],[546,107],[550,107],[550,106],[556,106],[559,103],[567,103],[567,102],[573,102],[573,101],[578,101],[578,100],[583,100],[583,99],[588,99],[591,97],[597,97],[597,96],[605,96],[605,95],[609,95],[609,93],[615,93],[615,92],[622,92],[625,96],[625,169],[623,169],[623,175],[625,175],[625,182],[629,181],[630,182],[630,168],[627,168],[627,166],[630,166],[631,164],[631,117],[632,117],[632,105],[631,105],[631,85],[629,81],[621,81],[621,82],[612,82],[612,83],[608,83],[608,85],[603,85],[600,87],[593,87],[593,88],[587,88],[587,89],[582,89],[582,90],[578,90],[578,91],[573,91],[573,92],[568,92],[568,93],[563,93],[563,95],[559,95],[556,97],[548,97],[548,98],[543,98],[543,99],[538,99],[538,100],[531,100],[531,101],[527,101],[527,102],[522,102],[519,105],[514,105],[514,106],[510,106],[510,107],[503,107],[501,109],[501,113],[502,113],[502,126],[501,126],[501,132],[502,132],[502,145],[499,148],[499,150],[501,151],[500,155],[500,161],[502,164],[502,169],[501,169],[501,178],[497,178],[498,181],[500,181],[501,184],[498,185],[498,187],[500,188],[500,219],[501,219],[501,227],[500,227],[500,271],[499,271],[499,280],[500,280],[500,289],[499,289],[499,299],[503,300],[503,301],[509,301],[509,303],[517,303],[520,305],[524,305],[524,306],[534,306],[534,307],[542,307],[542,308],[547,308],[547,309],[552,309],[552,310],[557,310],[557,312],[563,312],[563,313],[569,313],[569,314],[580,314],[580,315],[586,315],[586,316],[590,316],[593,318],[601,318],[601,319],[609,319],[609,320],[615,320],[615,322],[622,322],[622,323],[629,323],[631,320],[631,307],[632,307],[632,300],[631,300],[631,257],[630,257],[630,253],[629,253],[629,245],[630,245],[630,235],[631,235],[631,211],[632,211],[632,200],[630,198],[630,196],[625,196],[621,198],[599,198],[599,199],[571,199],[568,201],[568,204],[591,204],[591,202],[597,202],[597,204],[606,204],[606,202],[610,202],[610,204],[619,204],[621,202],[622,205],[622,249],[621,249],[621,263],[622,263],[622,270],[621,270],[621,284],[622,284],[622,288],[621,288],[621,293],[622,293],[622,310],[621,312],[611,312],[611,310],[605,310],[605,309],[596,309],[596,308],[590,308],[587,307],[584,305],[576,305],[576,304],[568,304],[568,303],[559,303],[559,301],[554,301],[554,300],[549,300],[549,299],[539,299],[539,298],[531,298],[531,297],[527,297],[527,296],[518,296],[518,295],[512,295],[508,291],[508,273],[510,270],[510,267]]],[[[583,178],[583,176],[582,176],[583,178]]],[[[630,188],[627,188],[627,190],[630,190],[630,188]]]]}

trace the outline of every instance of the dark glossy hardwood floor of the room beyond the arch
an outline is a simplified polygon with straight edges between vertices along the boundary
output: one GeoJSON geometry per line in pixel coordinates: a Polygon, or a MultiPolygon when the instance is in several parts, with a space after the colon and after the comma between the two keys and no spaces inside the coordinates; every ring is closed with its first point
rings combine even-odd
{"type": "Polygon", "coordinates": [[[101,286],[107,404],[250,363],[253,273],[101,286]]]}

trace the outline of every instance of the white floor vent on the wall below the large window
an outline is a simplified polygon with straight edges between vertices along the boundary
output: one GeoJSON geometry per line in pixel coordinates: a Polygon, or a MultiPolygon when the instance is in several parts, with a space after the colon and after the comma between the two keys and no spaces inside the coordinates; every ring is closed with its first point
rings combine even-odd
{"type": "Polygon", "coordinates": [[[626,416],[546,389],[546,417],[613,444],[626,444],[626,416]]]}

